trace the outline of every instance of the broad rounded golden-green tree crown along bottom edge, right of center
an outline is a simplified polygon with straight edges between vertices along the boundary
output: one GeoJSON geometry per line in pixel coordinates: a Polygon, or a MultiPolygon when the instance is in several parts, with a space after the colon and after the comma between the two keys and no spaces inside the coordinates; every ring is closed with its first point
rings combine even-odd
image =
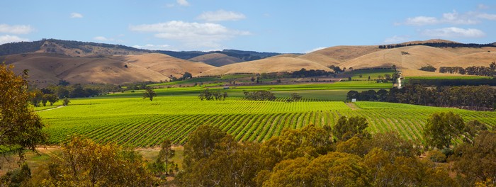
{"type": "Polygon", "coordinates": [[[278,163],[263,186],[370,186],[361,158],[329,152],[316,159],[305,157],[278,163]]]}

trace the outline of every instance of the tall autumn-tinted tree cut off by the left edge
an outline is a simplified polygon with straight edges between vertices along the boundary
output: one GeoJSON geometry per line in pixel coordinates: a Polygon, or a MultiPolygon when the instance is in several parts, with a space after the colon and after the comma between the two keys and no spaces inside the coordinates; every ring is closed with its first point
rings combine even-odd
{"type": "Polygon", "coordinates": [[[42,129],[45,125],[29,106],[28,71],[17,76],[13,66],[0,64],[0,154],[17,153],[23,162],[24,151],[35,151],[47,140],[42,129]]]}

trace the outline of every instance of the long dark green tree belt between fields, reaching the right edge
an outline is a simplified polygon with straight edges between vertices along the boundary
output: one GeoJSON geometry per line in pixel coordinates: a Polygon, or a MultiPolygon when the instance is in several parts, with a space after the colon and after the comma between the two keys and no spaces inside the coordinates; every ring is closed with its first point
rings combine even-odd
{"type": "Polygon", "coordinates": [[[423,106],[467,108],[476,111],[495,109],[496,90],[490,86],[438,86],[429,88],[421,85],[407,85],[402,89],[389,91],[349,91],[346,99],[357,101],[383,101],[409,103],[423,106]]]}

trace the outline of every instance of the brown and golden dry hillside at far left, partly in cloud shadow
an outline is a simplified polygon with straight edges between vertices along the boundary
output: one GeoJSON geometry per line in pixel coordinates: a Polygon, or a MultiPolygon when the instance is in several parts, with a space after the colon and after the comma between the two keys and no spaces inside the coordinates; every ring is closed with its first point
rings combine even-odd
{"type": "Polygon", "coordinates": [[[179,60],[162,54],[115,55],[108,57],[69,57],[48,53],[28,53],[1,57],[16,72],[29,70],[30,81],[39,86],[71,83],[123,84],[136,81],[164,81],[172,74],[199,74],[213,66],[179,60]]]}

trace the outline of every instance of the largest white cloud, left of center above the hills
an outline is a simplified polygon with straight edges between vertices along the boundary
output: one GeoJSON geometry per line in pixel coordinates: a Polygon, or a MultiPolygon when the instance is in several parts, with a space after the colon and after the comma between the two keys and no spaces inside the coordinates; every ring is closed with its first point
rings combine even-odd
{"type": "Polygon", "coordinates": [[[169,21],[166,23],[130,26],[130,30],[155,33],[156,38],[179,40],[187,47],[220,47],[220,42],[237,35],[250,35],[248,31],[232,30],[216,23],[188,23],[169,21]]]}

